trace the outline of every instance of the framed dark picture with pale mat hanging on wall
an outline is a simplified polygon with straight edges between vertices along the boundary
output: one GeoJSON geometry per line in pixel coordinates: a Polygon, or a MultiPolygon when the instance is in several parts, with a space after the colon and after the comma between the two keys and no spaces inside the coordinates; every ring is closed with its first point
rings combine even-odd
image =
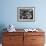
{"type": "Polygon", "coordinates": [[[18,7],[17,20],[20,22],[35,21],[35,8],[34,7],[18,7]]]}

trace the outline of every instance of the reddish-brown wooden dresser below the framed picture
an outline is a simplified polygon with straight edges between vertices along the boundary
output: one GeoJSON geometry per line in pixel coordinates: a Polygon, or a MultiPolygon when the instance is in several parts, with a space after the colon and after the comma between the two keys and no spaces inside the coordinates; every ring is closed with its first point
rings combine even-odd
{"type": "Polygon", "coordinates": [[[3,46],[44,46],[44,32],[4,32],[3,46]]]}

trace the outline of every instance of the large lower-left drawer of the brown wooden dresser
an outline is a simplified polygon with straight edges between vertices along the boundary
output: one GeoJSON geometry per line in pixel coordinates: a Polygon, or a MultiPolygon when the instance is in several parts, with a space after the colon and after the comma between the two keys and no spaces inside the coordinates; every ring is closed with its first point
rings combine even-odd
{"type": "Polygon", "coordinates": [[[12,43],[12,42],[21,42],[23,41],[23,36],[4,36],[3,43],[12,43]]]}

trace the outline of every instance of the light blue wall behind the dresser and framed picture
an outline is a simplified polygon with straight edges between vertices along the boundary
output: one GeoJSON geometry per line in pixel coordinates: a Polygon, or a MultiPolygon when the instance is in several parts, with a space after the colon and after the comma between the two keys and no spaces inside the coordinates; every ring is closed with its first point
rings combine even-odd
{"type": "Polygon", "coordinates": [[[46,32],[46,0],[0,0],[0,31],[13,24],[15,28],[42,28],[46,32]],[[35,22],[18,22],[17,7],[35,7],[35,22]]]}

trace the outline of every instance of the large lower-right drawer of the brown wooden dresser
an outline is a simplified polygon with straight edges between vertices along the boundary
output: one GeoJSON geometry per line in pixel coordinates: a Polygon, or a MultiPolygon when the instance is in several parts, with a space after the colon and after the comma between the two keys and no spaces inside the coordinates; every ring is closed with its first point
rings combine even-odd
{"type": "Polygon", "coordinates": [[[44,36],[24,36],[24,45],[41,45],[44,43],[44,36]]]}

